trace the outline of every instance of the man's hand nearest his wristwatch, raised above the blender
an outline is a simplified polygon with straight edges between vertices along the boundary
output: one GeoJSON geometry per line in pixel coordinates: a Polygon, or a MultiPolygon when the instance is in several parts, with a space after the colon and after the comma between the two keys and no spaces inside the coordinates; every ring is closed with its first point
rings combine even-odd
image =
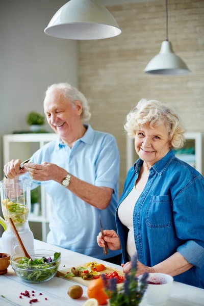
{"type": "Polygon", "coordinates": [[[42,164],[26,163],[25,170],[29,172],[33,180],[49,181],[53,180],[58,183],[67,175],[67,171],[56,164],[43,162],[42,164]]]}

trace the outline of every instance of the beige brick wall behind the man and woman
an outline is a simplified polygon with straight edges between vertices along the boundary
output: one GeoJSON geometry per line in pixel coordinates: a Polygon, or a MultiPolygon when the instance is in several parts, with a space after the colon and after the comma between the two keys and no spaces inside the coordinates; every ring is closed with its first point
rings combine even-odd
{"type": "Polygon", "coordinates": [[[143,72],[150,59],[159,53],[166,37],[164,0],[108,9],[122,34],[80,42],[80,90],[91,107],[92,127],[117,139],[121,193],[126,176],[123,122],[141,98],[154,98],[172,105],[187,132],[204,134],[204,1],[168,1],[169,40],[174,52],[192,71],[184,76],[143,72]]]}

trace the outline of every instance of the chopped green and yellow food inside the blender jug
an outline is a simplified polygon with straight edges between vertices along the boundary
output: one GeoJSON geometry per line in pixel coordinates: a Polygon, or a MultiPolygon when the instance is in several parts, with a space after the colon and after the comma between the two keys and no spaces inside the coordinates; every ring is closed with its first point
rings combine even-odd
{"type": "Polygon", "coordinates": [[[14,203],[9,201],[9,199],[3,200],[2,203],[3,214],[6,221],[8,218],[12,218],[15,224],[24,223],[27,221],[29,210],[24,204],[14,203]]]}

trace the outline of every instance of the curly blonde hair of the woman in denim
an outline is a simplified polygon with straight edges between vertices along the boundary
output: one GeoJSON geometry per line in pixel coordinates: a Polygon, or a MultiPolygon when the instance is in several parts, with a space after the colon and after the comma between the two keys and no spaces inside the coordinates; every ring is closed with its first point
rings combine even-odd
{"type": "Polygon", "coordinates": [[[184,146],[185,138],[180,117],[172,107],[157,100],[141,99],[136,107],[126,116],[124,129],[131,137],[135,137],[140,125],[150,124],[150,127],[165,124],[173,149],[184,146]]]}

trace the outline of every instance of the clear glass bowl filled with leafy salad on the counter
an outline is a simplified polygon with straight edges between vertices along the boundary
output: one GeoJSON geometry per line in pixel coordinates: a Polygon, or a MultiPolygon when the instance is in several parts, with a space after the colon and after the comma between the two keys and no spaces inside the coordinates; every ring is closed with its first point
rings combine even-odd
{"type": "Polygon", "coordinates": [[[33,262],[23,257],[23,253],[12,256],[11,266],[24,282],[38,284],[53,278],[61,263],[61,254],[51,250],[28,251],[33,262]]]}

